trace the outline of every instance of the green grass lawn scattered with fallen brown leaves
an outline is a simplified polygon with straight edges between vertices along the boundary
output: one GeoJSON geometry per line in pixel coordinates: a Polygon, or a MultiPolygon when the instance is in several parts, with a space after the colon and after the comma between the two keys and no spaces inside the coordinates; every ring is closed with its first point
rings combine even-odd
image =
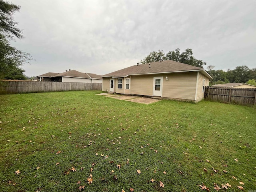
{"type": "Polygon", "coordinates": [[[256,108],[96,93],[0,96],[1,192],[256,191],[256,108]]]}

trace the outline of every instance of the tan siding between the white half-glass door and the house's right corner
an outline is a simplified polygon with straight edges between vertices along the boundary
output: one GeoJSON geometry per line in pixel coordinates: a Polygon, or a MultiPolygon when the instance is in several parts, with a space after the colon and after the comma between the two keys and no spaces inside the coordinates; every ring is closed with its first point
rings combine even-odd
{"type": "Polygon", "coordinates": [[[195,100],[196,79],[197,72],[164,74],[162,97],[195,100]]]}

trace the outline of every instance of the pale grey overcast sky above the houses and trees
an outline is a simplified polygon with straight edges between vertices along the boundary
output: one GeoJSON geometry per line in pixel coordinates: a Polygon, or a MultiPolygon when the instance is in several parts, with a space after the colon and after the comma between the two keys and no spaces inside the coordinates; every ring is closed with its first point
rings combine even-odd
{"type": "Polygon", "coordinates": [[[26,76],[107,74],[150,52],[192,48],[214,70],[256,68],[256,0],[9,0],[30,53],[26,76]]]}

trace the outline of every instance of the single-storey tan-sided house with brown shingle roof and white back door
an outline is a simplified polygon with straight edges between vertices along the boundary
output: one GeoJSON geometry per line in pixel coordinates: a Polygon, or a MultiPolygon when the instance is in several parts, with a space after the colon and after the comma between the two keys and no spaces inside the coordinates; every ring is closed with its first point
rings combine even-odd
{"type": "Polygon", "coordinates": [[[203,68],[160,60],[103,75],[102,91],[198,102],[211,78],[203,68]]]}

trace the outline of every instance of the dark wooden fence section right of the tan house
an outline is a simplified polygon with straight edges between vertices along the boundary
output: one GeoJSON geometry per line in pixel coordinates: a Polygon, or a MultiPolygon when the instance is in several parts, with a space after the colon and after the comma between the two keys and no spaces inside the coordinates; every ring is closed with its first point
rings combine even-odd
{"type": "Polygon", "coordinates": [[[242,105],[256,105],[256,89],[206,87],[204,98],[211,101],[235,103],[242,105]]]}

